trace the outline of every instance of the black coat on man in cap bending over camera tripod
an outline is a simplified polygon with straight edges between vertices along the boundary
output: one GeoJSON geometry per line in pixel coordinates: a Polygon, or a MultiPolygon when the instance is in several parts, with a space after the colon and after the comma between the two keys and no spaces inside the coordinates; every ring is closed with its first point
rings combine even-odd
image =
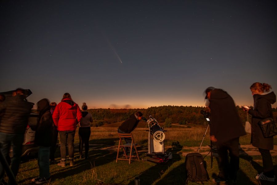
{"type": "Polygon", "coordinates": [[[245,135],[243,124],[232,97],[222,89],[211,91],[211,133],[218,143],[245,135]]]}

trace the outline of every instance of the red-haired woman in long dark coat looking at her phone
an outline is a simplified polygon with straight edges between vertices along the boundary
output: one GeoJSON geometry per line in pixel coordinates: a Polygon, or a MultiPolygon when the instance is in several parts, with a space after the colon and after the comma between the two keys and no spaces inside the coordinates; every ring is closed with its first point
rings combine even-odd
{"type": "Polygon", "coordinates": [[[253,146],[259,148],[259,152],[263,158],[263,172],[256,175],[256,179],[275,181],[274,168],[272,157],[269,150],[273,150],[273,137],[264,138],[261,128],[258,125],[260,120],[268,117],[273,118],[271,104],[276,102],[276,95],[274,92],[269,92],[271,85],[266,83],[256,82],[251,85],[250,90],[254,98],[254,108],[245,109],[252,115],[251,121],[251,143],[253,146]]]}

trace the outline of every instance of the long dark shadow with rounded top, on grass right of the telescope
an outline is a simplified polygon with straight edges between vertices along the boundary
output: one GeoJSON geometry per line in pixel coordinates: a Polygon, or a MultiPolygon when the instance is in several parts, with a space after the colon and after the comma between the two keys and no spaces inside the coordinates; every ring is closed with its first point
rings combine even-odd
{"type": "MultiPolygon", "coordinates": [[[[179,142],[173,142],[171,144],[171,148],[166,151],[166,153],[172,153],[172,159],[169,160],[167,163],[158,163],[155,166],[147,169],[142,174],[139,175],[140,184],[148,185],[155,182],[155,180],[161,178],[161,175],[170,167],[174,162],[181,160],[181,157],[177,152],[182,150],[182,147],[179,142]]],[[[181,169],[181,168],[180,168],[181,169]]],[[[180,170],[179,169],[179,170],[180,170]]],[[[175,169],[174,169],[175,170],[175,169]]],[[[178,169],[176,169],[178,171],[178,169]]],[[[174,172],[173,172],[174,173],[174,172]]],[[[178,172],[179,173],[179,172],[178,172]]],[[[171,173],[170,173],[171,174],[171,173]]],[[[171,174],[174,175],[174,174],[171,174]]],[[[167,175],[168,176],[168,175],[167,175]]],[[[167,176],[165,178],[167,178],[167,176]]],[[[133,177],[134,178],[134,177],[133,177]]],[[[168,177],[168,178],[171,178],[168,177]]],[[[164,178],[163,178],[164,179],[164,178]]],[[[129,185],[133,185],[134,180],[129,183],[129,185]]],[[[157,184],[165,184],[165,183],[157,183],[157,184]]]]}

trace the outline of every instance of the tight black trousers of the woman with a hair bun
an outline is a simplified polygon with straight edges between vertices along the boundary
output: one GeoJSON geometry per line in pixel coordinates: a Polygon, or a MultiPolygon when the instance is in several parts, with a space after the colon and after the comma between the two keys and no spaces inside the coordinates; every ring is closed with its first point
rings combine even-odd
{"type": "Polygon", "coordinates": [[[80,156],[83,156],[83,145],[85,144],[85,158],[87,158],[90,140],[90,127],[79,128],[79,140],[79,154],[80,156]]]}

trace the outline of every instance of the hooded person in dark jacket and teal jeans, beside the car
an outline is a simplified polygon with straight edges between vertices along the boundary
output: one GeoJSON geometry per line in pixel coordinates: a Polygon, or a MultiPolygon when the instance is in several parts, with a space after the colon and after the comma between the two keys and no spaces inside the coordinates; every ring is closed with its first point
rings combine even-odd
{"type": "Polygon", "coordinates": [[[35,133],[35,144],[39,146],[38,167],[39,176],[31,181],[35,184],[42,184],[50,179],[49,156],[52,138],[53,119],[50,112],[50,105],[47,99],[37,103],[39,117],[35,133]]]}

